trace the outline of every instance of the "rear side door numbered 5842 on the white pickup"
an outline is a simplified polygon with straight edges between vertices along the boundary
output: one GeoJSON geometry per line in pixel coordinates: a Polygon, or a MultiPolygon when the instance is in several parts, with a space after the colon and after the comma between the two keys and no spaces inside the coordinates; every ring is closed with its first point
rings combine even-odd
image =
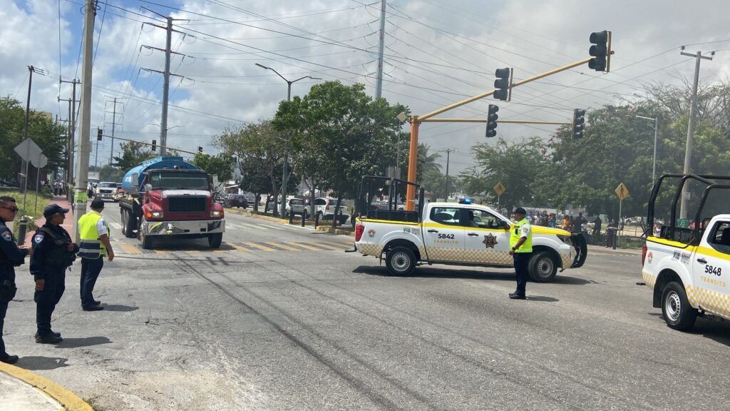
{"type": "Polygon", "coordinates": [[[423,242],[429,261],[463,261],[465,236],[458,207],[432,207],[423,222],[423,242]]]}

